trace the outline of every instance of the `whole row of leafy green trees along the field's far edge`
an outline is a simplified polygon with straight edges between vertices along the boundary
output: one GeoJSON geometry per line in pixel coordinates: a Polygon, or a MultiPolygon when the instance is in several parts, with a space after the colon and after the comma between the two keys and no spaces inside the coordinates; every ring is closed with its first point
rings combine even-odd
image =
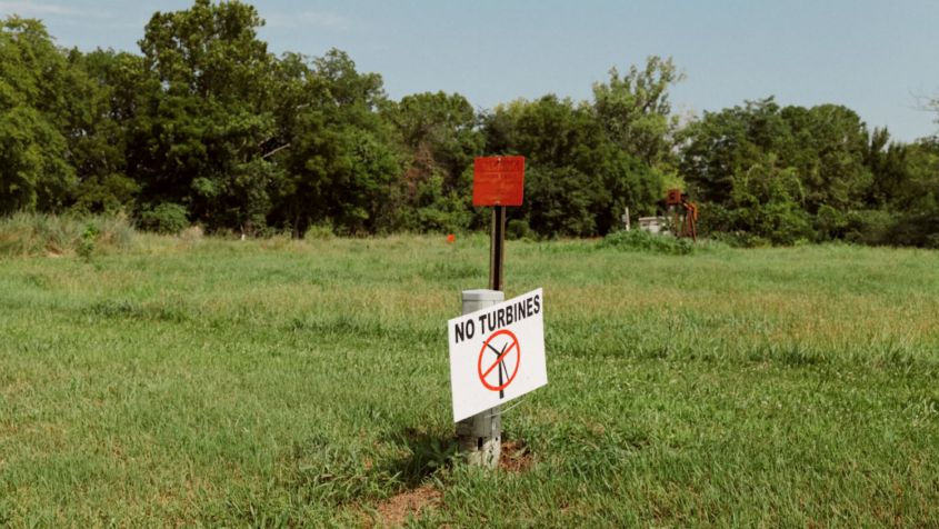
{"type": "Polygon", "coordinates": [[[939,141],[890,140],[836,104],[772,98],[682,119],[673,62],[611,70],[592,101],[477,110],[458,93],[391,100],[344,52],[268,51],[258,11],[158,12],[140,53],[0,30],[0,214],[127,214],[138,226],[254,234],[482,229],[472,162],[525,156],[513,237],[592,237],[660,214],[666,189],[743,246],[848,240],[939,247],[939,141]]]}

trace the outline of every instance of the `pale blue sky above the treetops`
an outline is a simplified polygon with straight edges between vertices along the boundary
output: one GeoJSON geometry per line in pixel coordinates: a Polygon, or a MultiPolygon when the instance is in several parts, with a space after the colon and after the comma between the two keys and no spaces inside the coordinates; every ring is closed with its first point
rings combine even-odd
{"type": "MultiPolygon", "coordinates": [[[[682,113],[775,96],[843,104],[912,141],[939,132],[917,96],[939,96],[937,0],[256,0],[270,51],[347,51],[389,97],[459,92],[477,108],[546,93],[590,100],[612,67],[672,57],[682,113]]],[[[0,0],[63,47],[139,52],[156,11],[192,0],[0,0]]]]}

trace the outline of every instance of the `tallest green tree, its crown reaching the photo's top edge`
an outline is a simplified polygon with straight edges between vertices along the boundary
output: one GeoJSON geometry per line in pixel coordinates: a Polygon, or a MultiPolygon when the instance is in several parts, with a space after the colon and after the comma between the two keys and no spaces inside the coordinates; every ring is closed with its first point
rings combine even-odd
{"type": "Polygon", "coordinates": [[[144,202],[182,203],[209,227],[266,226],[279,146],[261,26],[251,6],[209,0],[147,24],[141,84],[127,87],[139,106],[131,129],[146,153],[131,169],[144,202]]]}

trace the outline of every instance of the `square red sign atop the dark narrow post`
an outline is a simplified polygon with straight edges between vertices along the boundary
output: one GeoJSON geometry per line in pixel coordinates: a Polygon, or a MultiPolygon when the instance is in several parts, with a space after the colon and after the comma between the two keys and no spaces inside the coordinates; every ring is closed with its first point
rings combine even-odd
{"type": "Polygon", "coordinates": [[[521,206],[525,157],[477,158],[472,167],[473,206],[521,206]]]}

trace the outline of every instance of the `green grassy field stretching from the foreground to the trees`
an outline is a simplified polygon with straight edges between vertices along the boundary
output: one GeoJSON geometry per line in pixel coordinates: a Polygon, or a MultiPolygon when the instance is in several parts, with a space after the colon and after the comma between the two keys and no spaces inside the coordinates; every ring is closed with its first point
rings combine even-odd
{"type": "Polygon", "coordinates": [[[939,252],[509,243],[549,385],[503,418],[535,465],[483,472],[446,321],[488,241],[446,251],[0,262],[0,527],[360,527],[421,486],[410,527],[939,526],[939,252]]]}

